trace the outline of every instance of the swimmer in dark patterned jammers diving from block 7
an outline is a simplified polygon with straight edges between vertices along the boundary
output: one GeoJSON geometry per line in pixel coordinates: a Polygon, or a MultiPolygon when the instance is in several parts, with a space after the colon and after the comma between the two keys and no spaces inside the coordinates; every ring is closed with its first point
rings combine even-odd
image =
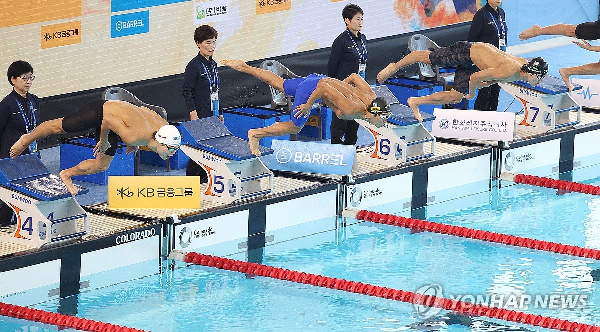
{"type": "Polygon", "coordinates": [[[509,83],[523,80],[536,86],[548,74],[548,63],[542,58],[527,61],[497,49],[487,43],[459,41],[448,47],[434,51],[414,51],[396,63],[391,63],[377,74],[379,83],[385,82],[396,71],[418,62],[430,65],[456,67],[454,86],[450,91],[436,92],[424,97],[409,98],[407,104],[422,122],[419,106],[428,104],[456,104],[475,98],[479,88],[495,83],[509,83]]]}

